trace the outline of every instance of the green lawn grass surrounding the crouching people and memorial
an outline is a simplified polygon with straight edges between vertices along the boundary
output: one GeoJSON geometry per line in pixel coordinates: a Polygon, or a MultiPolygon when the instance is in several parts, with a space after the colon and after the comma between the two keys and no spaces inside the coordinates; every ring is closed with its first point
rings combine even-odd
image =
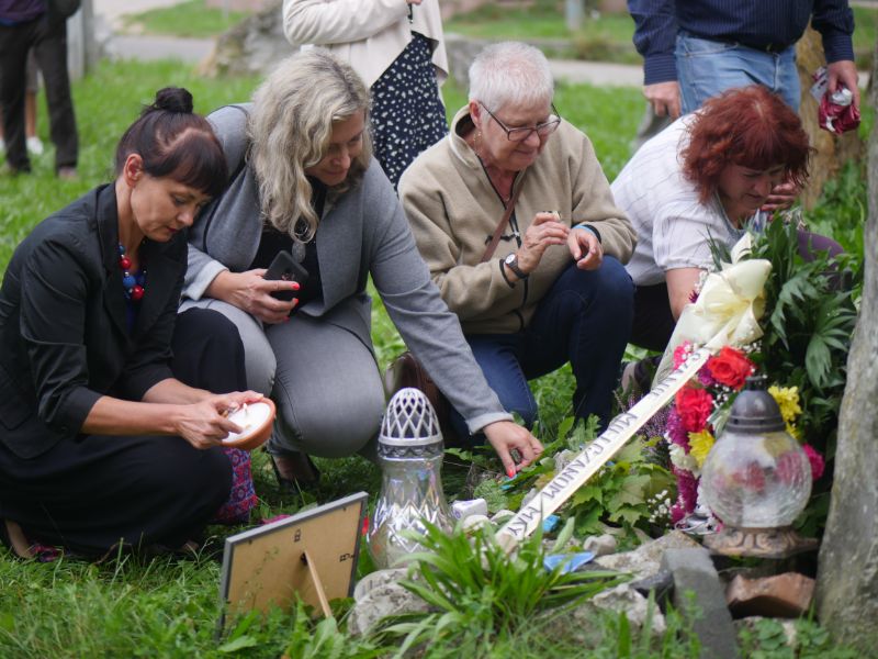
{"type": "MultiPolygon", "coordinates": [[[[63,208],[93,186],[112,179],[115,143],[134,120],[142,104],[151,101],[156,89],[183,86],[192,91],[201,112],[229,102],[247,100],[258,82],[255,78],[209,79],[179,62],[137,64],[102,63],[88,79],[75,83],[74,99],[80,133],[80,180],[60,182],[52,174],[52,156],[34,161],[34,174],[15,179],[0,178],[0,272],[15,245],[31,228],[55,210],[63,208]]],[[[463,92],[449,85],[443,90],[452,114],[464,102],[463,92]]],[[[45,116],[41,97],[41,113],[45,116]]],[[[596,89],[588,86],[561,86],[556,105],[560,112],[592,137],[598,158],[611,180],[629,155],[643,101],[638,89],[596,89]],[[611,110],[608,110],[611,109],[611,110]]],[[[868,115],[870,125],[871,115],[868,115]]],[[[865,129],[864,129],[865,130],[865,129]]],[[[41,122],[41,136],[48,144],[47,126],[41,122]]],[[[853,172],[852,172],[853,171],[853,172]]],[[[823,208],[821,219],[831,219],[845,203],[852,209],[847,224],[855,227],[865,204],[865,186],[858,170],[845,177],[823,208]]],[[[373,340],[382,364],[402,349],[380,300],[375,299],[373,340]]],[[[542,410],[539,434],[551,440],[559,423],[567,415],[573,382],[569,369],[539,380],[534,393],[542,410]]],[[[291,513],[303,504],[327,502],[364,490],[375,496],[380,484],[378,469],[361,458],[317,460],[324,473],[316,493],[304,501],[282,494],[274,483],[266,456],[254,455],[256,490],[260,507],[255,517],[291,513]]],[[[443,469],[446,492],[457,495],[465,481],[466,466],[447,462],[443,469]]],[[[221,547],[230,530],[214,527],[213,546],[221,547]]],[[[322,656],[319,643],[337,644],[338,656],[364,656],[367,641],[354,641],[342,630],[322,628],[316,638],[305,618],[274,613],[261,621],[244,621],[222,645],[214,639],[218,607],[218,565],[205,550],[199,560],[156,559],[148,562],[131,558],[93,566],[60,560],[50,565],[21,563],[0,550],[0,657],[219,657],[236,655],[278,657],[288,644],[297,650],[291,657],[322,656]],[[293,639],[293,640],[291,640],[293,639]],[[328,639],[328,640],[327,640],[328,639]]],[[[586,627],[586,625],[581,625],[586,627]]],[[[633,634],[618,618],[598,617],[588,625],[588,644],[594,656],[619,656],[630,647],[633,634]],[[616,621],[616,622],[614,622],[616,621]]],[[[678,627],[676,627],[678,629],[678,627]]],[[[582,643],[565,637],[570,625],[558,619],[541,619],[532,627],[500,639],[492,656],[573,656],[582,643]]],[[[577,632],[573,629],[572,632],[577,632]]],[[[578,629],[579,634],[584,634],[578,629]]],[[[674,654],[674,638],[660,641],[662,649],[650,655],[674,654]],[[669,649],[664,649],[669,648],[669,649]]],[[[638,647],[649,648],[649,639],[638,647]]],[[[441,656],[443,648],[436,649],[441,656]]],[[[453,651],[446,647],[446,655],[453,651]]],[[[328,655],[323,655],[328,656],[328,655]]],[[[688,652],[683,651],[683,656],[688,652]]]]}

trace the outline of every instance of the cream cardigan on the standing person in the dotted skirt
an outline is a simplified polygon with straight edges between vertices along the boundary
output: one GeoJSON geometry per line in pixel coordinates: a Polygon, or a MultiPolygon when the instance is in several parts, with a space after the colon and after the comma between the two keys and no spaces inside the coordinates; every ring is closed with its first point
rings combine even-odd
{"type": "Polygon", "coordinates": [[[441,86],[448,77],[439,0],[283,0],[283,32],[294,46],[324,46],[350,64],[372,87],[418,32],[434,43],[432,64],[441,86]]]}

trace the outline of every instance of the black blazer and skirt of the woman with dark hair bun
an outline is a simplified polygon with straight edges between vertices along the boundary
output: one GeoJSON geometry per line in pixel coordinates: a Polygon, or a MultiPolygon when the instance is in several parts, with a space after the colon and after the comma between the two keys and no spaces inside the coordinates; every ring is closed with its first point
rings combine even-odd
{"type": "Polygon", "coordinates": [[[232,483],[221,448],[80,433],[94,402],[140,400],[173,375],[213,391],[244,382],[225,319],[188,312],[175,332],[185,236],[140,248],[148,277],[131,328],[117,245],[115,190],[104,186],[43,221],[0,289],[0,516],[31,540],[91,556],[120,541],[182,545],[232,483]]]}

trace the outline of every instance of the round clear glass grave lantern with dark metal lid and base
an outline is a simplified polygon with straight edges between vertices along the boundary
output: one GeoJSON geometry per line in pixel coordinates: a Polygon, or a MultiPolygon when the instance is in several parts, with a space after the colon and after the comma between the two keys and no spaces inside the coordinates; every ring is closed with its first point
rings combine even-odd
{"type": "Polygon", "coordinates": [[[811,495],[811,463],[765,380],[747,378],[701,470],[705,500],[723,523],[705,538],[717,554],[780,558],[817,543],[791,528],[811,495]]]}

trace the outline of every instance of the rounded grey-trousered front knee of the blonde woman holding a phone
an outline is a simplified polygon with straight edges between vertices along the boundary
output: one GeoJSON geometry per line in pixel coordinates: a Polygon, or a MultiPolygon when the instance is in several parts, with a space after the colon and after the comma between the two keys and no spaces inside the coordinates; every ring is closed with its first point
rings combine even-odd
{"type": "Polygon", "coordinates": [[[278,360],[272,398],[279,423],[269,450],[326,458],[369,450],[385,405],[371,346],[304,314],[268,327],[266,336],[278,360]]]}

